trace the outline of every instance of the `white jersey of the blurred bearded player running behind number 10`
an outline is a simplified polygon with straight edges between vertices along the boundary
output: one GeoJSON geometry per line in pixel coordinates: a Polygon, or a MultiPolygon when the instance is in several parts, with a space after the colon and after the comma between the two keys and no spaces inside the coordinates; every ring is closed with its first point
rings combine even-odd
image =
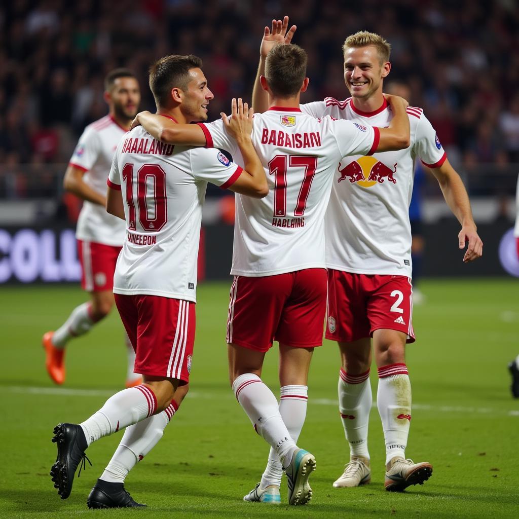
{"type": "MultiPolygon", "coordinates": [[[[83,131],[70,159],[69,165],[85,171],[84,182],[103,196],[115,149],[125,133],[110,115],[92,122],[83,131]]],[[[125,238],[125,224],[108,214],[103,206],[85,200],[77,220],[76,238],[120,247],[125,238]]]]}

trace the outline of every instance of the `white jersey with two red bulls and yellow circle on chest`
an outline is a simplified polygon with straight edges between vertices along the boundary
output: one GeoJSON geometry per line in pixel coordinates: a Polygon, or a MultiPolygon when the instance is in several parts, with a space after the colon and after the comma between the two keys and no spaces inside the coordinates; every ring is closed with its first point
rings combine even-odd
{"type": "MultiPolygon", "coordinates": [[[[376,111],[360,112],[350,99],[301,105],[313,117],[331,115],[359,125],[387,127],[393,117],[386,100],[376,111]]],[[[411,276],[409,202],[414,162],[429,168],[446,159],[434,128],[421,108],[407,108],[411,145],[372,157],[342,158],[333,181],[326,212],[326,265],[356,274],[411,276]]]]}

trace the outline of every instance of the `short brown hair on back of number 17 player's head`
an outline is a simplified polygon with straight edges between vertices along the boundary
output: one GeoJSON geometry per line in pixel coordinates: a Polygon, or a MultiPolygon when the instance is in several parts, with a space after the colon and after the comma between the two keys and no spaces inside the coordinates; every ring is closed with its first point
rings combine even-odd
{"type": "Polygon", "coordinates": [[[306,51],[298,45],[279,44],[270,49],[265,61],[265,78],[274,95],[296,95],[306,77],[306,51]]]}

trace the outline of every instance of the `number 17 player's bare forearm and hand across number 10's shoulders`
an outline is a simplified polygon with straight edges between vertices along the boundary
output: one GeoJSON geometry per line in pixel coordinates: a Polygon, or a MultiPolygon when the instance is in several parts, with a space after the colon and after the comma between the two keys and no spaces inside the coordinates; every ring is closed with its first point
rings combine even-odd
{"type": "Polygon", "coordinates": [[[206,137],[198,125],[177,124],[169,117],[151,112],[140,112],[131,124],[130,130],[142,127],[157,141],[178,146],[205,146],[206,137]]]}

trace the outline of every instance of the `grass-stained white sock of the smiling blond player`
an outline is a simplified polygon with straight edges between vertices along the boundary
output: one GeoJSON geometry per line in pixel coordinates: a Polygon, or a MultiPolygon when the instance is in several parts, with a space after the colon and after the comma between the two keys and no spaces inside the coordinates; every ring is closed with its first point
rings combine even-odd
{"type": "Polygon", "coordinates": [[[377,407],[386,442],[386,465],[395,457],[405,459],[411,424],[411,383],[404,363],[378,368],[377,407]]]}

